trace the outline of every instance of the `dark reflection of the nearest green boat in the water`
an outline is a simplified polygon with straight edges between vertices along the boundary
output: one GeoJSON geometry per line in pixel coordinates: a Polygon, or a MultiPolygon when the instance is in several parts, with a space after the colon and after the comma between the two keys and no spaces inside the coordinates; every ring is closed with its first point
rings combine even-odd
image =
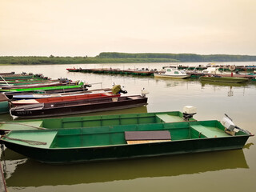
{"type": "MultiPolygon", "coordinates": [[[[244,150],[250,145],[244,146],[244,150]]],[[[6,149],[3,159],[6,159],[7,187],[90,184],[249,168],[243,150],[54,166],[24,158],[6,149]],[[33,179],[24,175],[30,175],[33,179]]]]}

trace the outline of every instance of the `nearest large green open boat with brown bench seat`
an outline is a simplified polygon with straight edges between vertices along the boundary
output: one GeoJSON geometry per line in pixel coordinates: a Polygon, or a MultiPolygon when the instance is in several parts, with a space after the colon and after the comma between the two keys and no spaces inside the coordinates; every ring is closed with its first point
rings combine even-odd
{"type": "Polygon", "coordinates": [[[227,134],[218,121],[13,130],[1,138],[10,150],[45,163],[148,158],[242,149],[250,133],[227,134]]]}

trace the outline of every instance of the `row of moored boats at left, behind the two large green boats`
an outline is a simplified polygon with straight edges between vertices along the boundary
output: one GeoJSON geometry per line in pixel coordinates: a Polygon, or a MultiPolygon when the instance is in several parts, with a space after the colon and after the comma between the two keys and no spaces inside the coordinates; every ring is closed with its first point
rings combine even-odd
{"type": "MultiPolygon", "coordinates": [[[[10,77],[10,75],[7,77],[10,77]]],[[[147,104],[145,94],[122,96],[121,94],[126,94],[126,90],[123,90],[120,85],[115,85],[111,89],[88,90],[86,87],[90,85],[83,82],[72,82],[70,80],[66,80],[66,82],[61,82],[61,80],[48,82],[47,80],[46,82],[41,78],[26,78],[26,81],[23,81],[21,80],[23,78],[25,76],[21,75],[14,82],[35,81],[38,84],[10,86],[10,82],[6,82],[8,85],[0,86],[2,113],[10,111],[14,118],[42,118],[82,114],[127,109],[147,104]],[[35,94],[34,91],[40,93],[35,94]]],[[[6,81],[5,78],[4,81],[6,81]]]]}

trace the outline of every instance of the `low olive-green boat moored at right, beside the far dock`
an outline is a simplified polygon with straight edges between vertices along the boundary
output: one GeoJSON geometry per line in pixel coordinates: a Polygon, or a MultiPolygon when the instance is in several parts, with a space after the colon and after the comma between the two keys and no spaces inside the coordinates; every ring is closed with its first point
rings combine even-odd
{"type": "Polygon", "coordinates": [[[234,78],[234,77],[221,77],[221,76],[202,76],[199,78],[201,81],[208,82],[235,82],[242,83],[247,82],[248,78],[234,78]]]}

